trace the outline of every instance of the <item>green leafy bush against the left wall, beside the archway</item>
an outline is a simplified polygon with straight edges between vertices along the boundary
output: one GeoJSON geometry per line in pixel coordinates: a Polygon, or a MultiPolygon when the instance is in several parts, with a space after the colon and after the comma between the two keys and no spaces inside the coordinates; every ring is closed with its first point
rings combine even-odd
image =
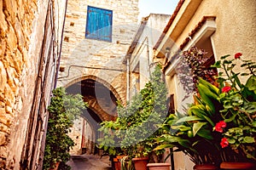
{"type": "Polygon", "coordinates": [[[82,96],[79,94],[67,95],[64,88],[56,88],[53,90],[53,95],[48,107],[49,120],[44,150],[44,169],[53,167],[55,162],[66,163],[69,160],[68,151],[74,146],[74,142],[67,133],[73,126],[73,121],[85,108],[82,96]]]}

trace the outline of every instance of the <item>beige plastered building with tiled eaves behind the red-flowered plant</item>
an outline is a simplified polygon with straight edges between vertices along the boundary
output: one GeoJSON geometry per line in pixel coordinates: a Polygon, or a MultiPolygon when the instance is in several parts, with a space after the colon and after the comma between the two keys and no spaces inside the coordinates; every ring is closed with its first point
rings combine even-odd
{"type": "MultiPolygon", "coordinates": [[[[154,45],[155,59],[166,60],[163,71],[175,108],[183,111],[192,96],[183,101],[185,92],[177,77],[178,51],[195,45],[207,51],[208,65],[225,54],[243,54],[255,61],[256,1],[253,0],[180,0],[160,39],[154,45]],[[166,53],[163,53],[165,51],[166,53]]],[[[186,156],[174,156],[175,169],[192,169],[186,156]]]]}

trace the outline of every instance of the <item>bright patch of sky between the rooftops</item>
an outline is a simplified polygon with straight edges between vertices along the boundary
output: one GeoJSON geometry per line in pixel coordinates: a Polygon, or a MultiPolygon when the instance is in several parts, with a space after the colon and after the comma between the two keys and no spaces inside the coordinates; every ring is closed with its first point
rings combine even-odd
{"type": "Polygon", "coordinates": [[[172,14],[179,0],[139,0],[140,14],[138,20],[148,14],[172,14]]]}

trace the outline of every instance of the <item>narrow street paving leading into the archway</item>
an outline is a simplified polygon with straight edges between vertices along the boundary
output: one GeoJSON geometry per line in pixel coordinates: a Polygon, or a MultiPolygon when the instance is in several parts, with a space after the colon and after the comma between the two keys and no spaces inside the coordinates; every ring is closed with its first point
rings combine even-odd
{"type": "Polygon", "coordinates": [[[111,170],[111,162],[108,156],[80,155],[71,156],[67,164],[72,170],[111,170]]]}

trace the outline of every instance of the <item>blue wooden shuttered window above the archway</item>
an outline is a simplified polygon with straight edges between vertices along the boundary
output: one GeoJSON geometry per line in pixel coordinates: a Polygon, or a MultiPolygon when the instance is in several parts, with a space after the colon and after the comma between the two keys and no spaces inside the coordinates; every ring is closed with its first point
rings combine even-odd
{"type": "Polygon", "coordinates": [[[85,37],[111,42],[112,16],[112,10],[88,6],[85,37]]]}

